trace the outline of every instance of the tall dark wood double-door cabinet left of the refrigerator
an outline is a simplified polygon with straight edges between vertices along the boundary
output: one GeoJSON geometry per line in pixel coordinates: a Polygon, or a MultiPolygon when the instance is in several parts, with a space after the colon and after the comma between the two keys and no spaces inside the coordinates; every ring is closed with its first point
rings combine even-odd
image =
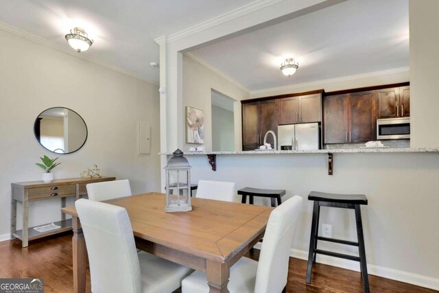
{"type": "MultiPolygon", "coordinates": [[[[268,130],[277,134],[278,104],[276,99],[242,104],[242,148],[254,150],[263,144],[263,137],[268,130]]],[[[272,135],[267,142],[274,147],[272,135]]]]}

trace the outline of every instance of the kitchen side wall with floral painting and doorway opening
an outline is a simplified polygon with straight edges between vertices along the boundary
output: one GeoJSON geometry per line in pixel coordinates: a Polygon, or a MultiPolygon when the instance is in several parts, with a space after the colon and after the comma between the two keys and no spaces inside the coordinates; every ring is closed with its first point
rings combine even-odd
{"type": "MultiPolygon", "coordinates": [[[[211,91],[219,91],[235,101],[235,150],[241,150],[241,99],[247,99],[248,93],[231,84],[224,78],[207,69],[189,56],[183,56],[183,106],[191,106],[204,111],[204,146],[212,150],[212,110],[211,91]]],[[[185,110],[183,108],[183,110],[185,110]]],[[[183,115],[185,116],[185,115],[183,115]]],[[[185,120],[183,119],[182,122],[185,120]]],[[[179,131],[185,133],[185,124],[179,124],[179,131]]],[[[182,136],[183,152],[189,150],[193,144],[186,143],[182,136]]]]}

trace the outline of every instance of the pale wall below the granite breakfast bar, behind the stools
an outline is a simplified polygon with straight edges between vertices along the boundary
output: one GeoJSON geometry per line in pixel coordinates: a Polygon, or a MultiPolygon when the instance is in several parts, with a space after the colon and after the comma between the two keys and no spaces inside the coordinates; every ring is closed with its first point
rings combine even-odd
{"type": "MultiPolygon", "coordinates": [[[[284,200],[302,196],[304,205],[292,246],[296,257],[307,257],[309,249],[310,191],[366,194],[368,206],[361,207],[361,215],[366,257],[372,265],[369,273],[439,290],[438,154],[335,154],[333,176],[328,175],[327,154],[217,155],[216,172],[206,156],[186,157],[193,182],[223,180],[237,183],[237,189],[286,189],[284,200]]],[[[255,203],[263,202],[255,199],[255,203]]],[[[322,207],[319,229],[322,223],[333,225],[335,238],[357,239],[352,210],[322,207]]],[[[354,246],[319,242],[320,247],[358,255],[354,246]]],[[[336,260],[331,259],[331,264],[337,264],[336,260]]]]}

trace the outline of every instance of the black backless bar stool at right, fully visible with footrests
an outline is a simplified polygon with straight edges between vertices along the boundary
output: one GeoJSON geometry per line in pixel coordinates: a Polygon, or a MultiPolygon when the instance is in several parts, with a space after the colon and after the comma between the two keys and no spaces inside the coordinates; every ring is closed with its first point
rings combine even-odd
{"type": "Polygon", "coordinates": [[[316,255],[319,253],[320,255],[329,255],[331,257],[340,257],[342,259],[359,261],[361,268],[361,277],[363,279],[363,289],[364,292],[369,292],[368,268],[366,265],[366,252],[364,250],[364,237],[363,237],[363,223],[361,221],[361,210],[360,210],[360,204],[368,204],[368,199],[364,194],[325,194],[323,192],[311,191],[311,193],[308,196],[308,200],[314,201],[314,208],[313,208],[313,221],[311,224],[311,240],[309,242],[307,283],[311,283],[311,272],[313,268],[313,263],[316,262],[316,255]],[[318,236],[318,220],[320,217],[320,207],[338,207],[342,209],[354,209],[355,222],[357,224],[358,242],[351,242],[341,239],[318,236]],[[355,257],[353,255],[345,255],[342,253],[333,253],[328,250],[318,249],[317,248],[318,240],[358,246],[359,257],[355,257]]]}

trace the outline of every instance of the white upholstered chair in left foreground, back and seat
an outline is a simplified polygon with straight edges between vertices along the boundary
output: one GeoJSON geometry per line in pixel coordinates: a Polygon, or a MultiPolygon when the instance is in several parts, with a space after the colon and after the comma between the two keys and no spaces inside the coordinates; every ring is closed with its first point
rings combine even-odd
{"type": "Polygon", "coordinates": [[[173,292],[193,272],[149,253],[138,254],[123,207],[85,199],[75,206],[84,231],[92,292],[173,292]]]}

